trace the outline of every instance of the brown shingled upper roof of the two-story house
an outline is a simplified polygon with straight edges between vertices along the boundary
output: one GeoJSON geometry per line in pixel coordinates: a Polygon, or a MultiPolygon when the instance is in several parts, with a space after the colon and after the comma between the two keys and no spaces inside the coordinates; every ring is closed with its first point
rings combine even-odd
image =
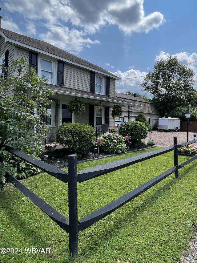
{"type": "Polygon", "coordinates": [[[67,62],[69,63],[74,63],[74,64],[78,64],[78,66],[80,67],[80,65],[91,69],[92,71],[98,71],[101,73],[104,73],[108,76],[110,76],[111,78],[117,79],[119,80],[120,78],[115,76],[114,74],[110,73],[109,71],[103,69],[102,67],[98,67],[97,65],[94,65],[84,59],[81,59],[75,55],[72,55],[58,47],[55,47],[47,42],[35,39],[35,38],[30,38],[3,28],[0,28],[0,34],[6,39],[6,41],[10,44],[14,44],[14,45],[18,45],[21,44],[21,46],[23,47],[24,45],[29,46],[29,48],[31,49],[31,47],[36,48],[38,50],[40,50],[40,52],[42,53],[42,51],[47,52],[49,54],[58,56],[62,59],[66,59],[67,62]],[[1,34],[2,32],[2,34],[1,34]],[[16,43],[18,42],[18,43],[16,43]]]}

